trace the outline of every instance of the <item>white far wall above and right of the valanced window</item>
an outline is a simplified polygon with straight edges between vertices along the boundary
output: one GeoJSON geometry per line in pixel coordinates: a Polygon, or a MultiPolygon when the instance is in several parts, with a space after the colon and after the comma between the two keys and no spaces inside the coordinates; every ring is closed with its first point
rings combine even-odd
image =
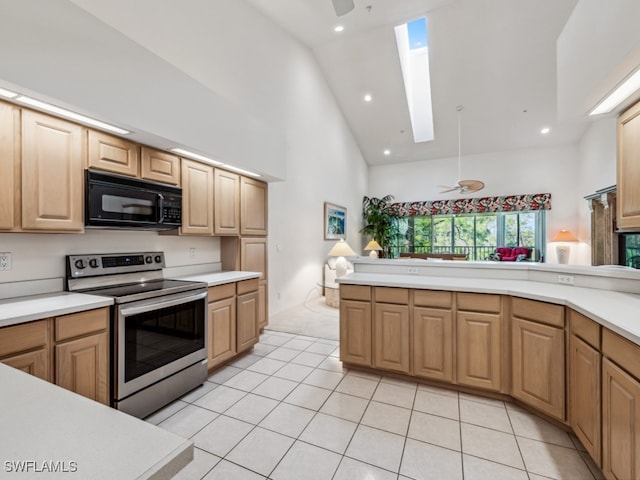
{"type": "MultiPolygon", "coordinates": [[[[484,190],[473,196],[551,193],[552,209],[547,212],[547,241],[558,230],[579,235],[584,228],[578,214],[578,186],[581,168],[577,146],[510,150],[462,157],[462,178],[485,182],[484,190]]],[[[595,174],[595,172],[594,172],[595,174]]],[[[443,158],[400,165],[374,166],[369,170],[369,192],[380,197],[393,195],[396,201],[454,199],[459,194],[441,194],[440,185],[457,180],[457,158],[443,158]]],[[[601,187],[599,187],[601,188],[601,187]]],[[[579,235],[581,243],[589,237],[579,235]]],[[[577,246],[571,263],[588,263],[583,248],[577,246]],[[579,253],[578,253],[579,252],[579,253]]],[[[555,250],[547,248],[546,261],[556,262],[555,250]]]]}

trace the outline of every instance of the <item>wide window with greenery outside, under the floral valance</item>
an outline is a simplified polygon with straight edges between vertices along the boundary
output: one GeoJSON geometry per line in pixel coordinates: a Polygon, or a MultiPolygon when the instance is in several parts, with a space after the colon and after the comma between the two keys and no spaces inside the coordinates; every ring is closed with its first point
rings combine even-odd
{"type": "Polygon", "coordinates": [[[486,260],[496,247],[531,247],[543,258],[545,211],[396,217],[392,252],[461,253],[486,260]]]}

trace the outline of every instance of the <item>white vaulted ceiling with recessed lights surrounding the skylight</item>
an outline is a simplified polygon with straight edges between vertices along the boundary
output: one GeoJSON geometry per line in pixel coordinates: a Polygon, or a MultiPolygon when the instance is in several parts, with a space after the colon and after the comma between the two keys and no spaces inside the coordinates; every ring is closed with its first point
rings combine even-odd
{"type": "Polygon", "coordinates": [[[371,165],[456,156],[459,105],[463,155],[574,143],[587,124],[557,114],[556,40],[578,0],[355,0],[340,17],[331,0],[246,1],[312,50],[371,165]],[[420,16],[435,139],[416,144],[394,27],[420,16]]]}

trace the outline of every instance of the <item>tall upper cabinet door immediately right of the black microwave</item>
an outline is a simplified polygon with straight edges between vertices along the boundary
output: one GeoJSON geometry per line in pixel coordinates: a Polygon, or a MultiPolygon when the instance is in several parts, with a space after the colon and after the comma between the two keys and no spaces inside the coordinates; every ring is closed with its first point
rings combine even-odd
{"type": "Polygon", "coordinates": [[[182,159],[182,235],[213,235],[213,167],[182,159]]]}

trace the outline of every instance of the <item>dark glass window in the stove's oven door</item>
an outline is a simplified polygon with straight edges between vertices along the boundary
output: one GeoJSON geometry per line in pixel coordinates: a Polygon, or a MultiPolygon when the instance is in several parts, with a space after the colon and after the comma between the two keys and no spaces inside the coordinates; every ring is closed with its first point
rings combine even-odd
{"type": "Polygon", "coordinates": [[[189,302],[126,317],[125,382],[203,349],[204,308],[189,302]]]}

